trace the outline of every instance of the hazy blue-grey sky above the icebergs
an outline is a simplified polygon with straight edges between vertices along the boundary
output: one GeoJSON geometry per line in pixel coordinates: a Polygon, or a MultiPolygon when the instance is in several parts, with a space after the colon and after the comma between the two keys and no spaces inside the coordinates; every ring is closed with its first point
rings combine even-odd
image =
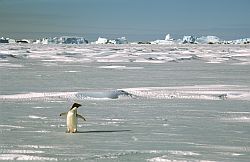
{"type": "Polygon", "coordinates": [[[0,0],[0,36],[250,37],[249,0],[0,0]]]}

